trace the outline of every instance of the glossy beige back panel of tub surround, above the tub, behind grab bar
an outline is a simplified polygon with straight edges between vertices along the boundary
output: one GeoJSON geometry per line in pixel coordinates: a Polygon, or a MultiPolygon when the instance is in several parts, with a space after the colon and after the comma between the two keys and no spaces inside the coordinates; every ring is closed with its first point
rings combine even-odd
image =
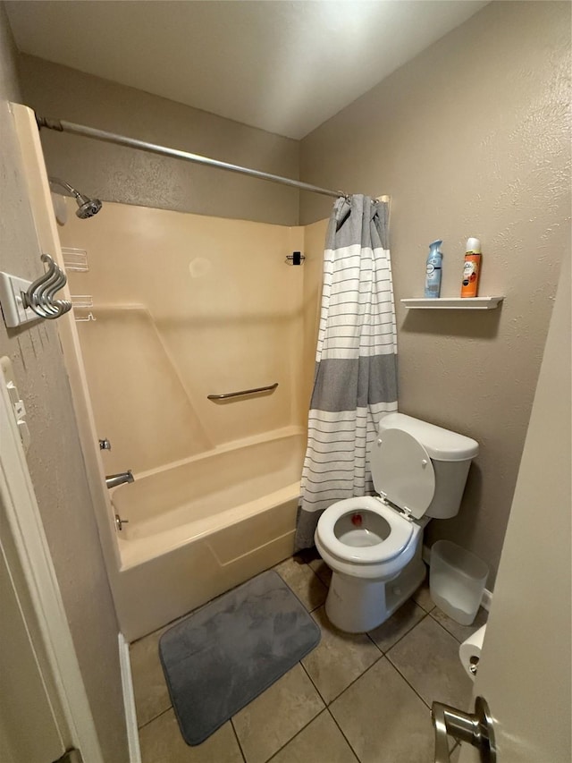
{"type": "Polygon", "coordinates": [[[70,288],[93,301],[75,316],[95,318],[77,327],[109,471],[305,425],[305,269],[286,263],[301,229],[109,202],[80,220],[67,206],[61,242],[88,257],[70,288]],[[206,397],[274,382],[272,394],[206,397]]]}

